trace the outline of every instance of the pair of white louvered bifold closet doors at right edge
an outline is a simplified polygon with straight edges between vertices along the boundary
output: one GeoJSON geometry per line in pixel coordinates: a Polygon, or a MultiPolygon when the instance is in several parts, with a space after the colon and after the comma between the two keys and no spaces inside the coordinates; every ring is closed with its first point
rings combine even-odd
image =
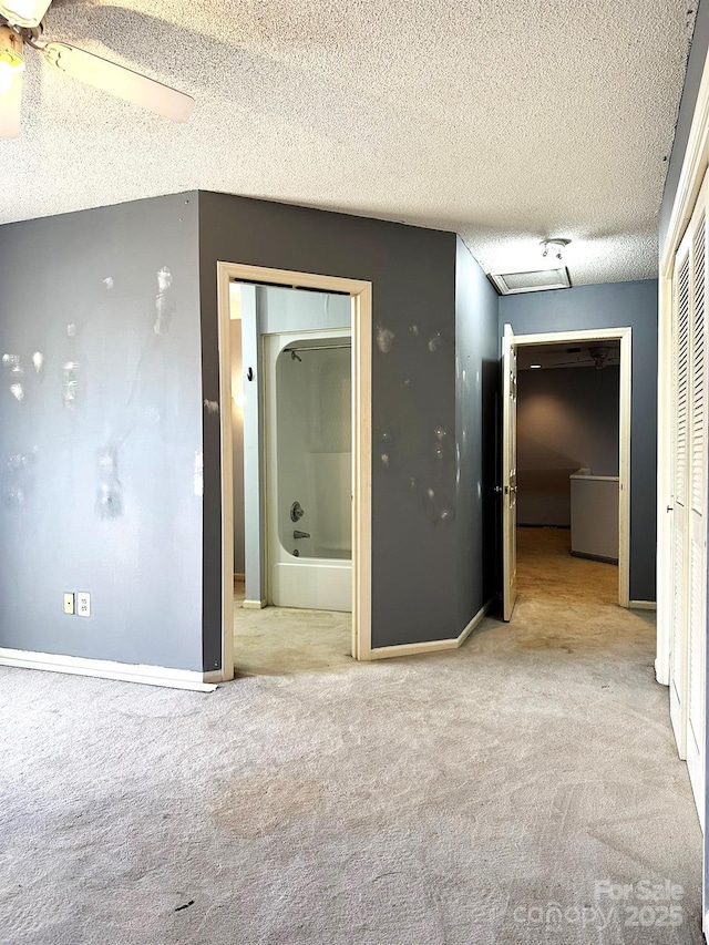
{"type": "Polygon", "coordinates": [[[670,715],[703,829],[707,633],[708,355],[705,181],[675,260],[672,301],[672,623],[670,715]]]}

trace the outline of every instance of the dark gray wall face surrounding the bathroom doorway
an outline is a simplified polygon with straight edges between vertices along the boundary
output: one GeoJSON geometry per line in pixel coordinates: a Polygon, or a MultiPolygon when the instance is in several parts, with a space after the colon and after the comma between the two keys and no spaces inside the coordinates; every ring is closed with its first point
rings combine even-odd
{"type": "MultiPolygon", "coordinates": [[[[376,647],[455,637],[484,603],[482,588],[475,587],[473,564],[464,575],[463,588],[459,579],[460,530],[480,530],[482,522],[481,506],[460,506],[456,493],[456,253],[452,233],[223,194],[199,194],[205,399],[218,400],[218,260],[373,284],[376,647]],[[459,603],[461,595],[465,605],[459,603]]],[[[475,279],[482,287],[480,276],[475,279]]],[[[471,292],[473,298],[475,290],[471,292]]],[[[494,325],[495,306],[486,286],[482,298],[494,325]]],[[[482,316],[481,319],[485,320],[482,316]]],[[[215,668],[220,661],[218,433],[218,417],[206,418],[205,669],[215,668]]],[[[476,443],[471,449],[481,446],[476,443]]],[[[472,462],[471,459],[471,466],[472,462]]]]}

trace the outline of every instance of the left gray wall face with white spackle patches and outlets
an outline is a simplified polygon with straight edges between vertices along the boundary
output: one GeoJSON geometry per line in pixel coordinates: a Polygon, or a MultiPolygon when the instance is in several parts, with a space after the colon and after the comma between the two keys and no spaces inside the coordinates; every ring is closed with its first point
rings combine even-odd
{"type": "Polygon", "coordinates": [[[196,194],[1,226],[0,285],[0,646],[202,670],[196,194]]]}

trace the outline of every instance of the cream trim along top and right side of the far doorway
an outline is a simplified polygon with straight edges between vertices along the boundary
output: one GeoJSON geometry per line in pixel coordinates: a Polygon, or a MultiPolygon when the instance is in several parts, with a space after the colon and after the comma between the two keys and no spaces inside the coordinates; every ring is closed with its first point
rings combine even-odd
{"type": "Polygon", "coordinates": [[[633,393],[633,330],[589,328],[583,331],[546,331],[516,335],[517,348],[528,345],[567,345],[585,341],[620,341],[620,404],[618,458],[618,604],[630,604],[630,410],[633,393]]]}

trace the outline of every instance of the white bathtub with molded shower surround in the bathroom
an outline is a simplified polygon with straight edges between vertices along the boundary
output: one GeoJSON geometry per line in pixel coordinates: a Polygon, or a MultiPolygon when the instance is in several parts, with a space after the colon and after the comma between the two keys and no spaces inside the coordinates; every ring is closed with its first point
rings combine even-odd
{"type": "Polygon", "coordinates": [[[280,607],[351,612],[349,332],[281,333],[265,341],[267,599],[280,607]],[[294,520],[296,502],[302,515],[294,520]]]}

